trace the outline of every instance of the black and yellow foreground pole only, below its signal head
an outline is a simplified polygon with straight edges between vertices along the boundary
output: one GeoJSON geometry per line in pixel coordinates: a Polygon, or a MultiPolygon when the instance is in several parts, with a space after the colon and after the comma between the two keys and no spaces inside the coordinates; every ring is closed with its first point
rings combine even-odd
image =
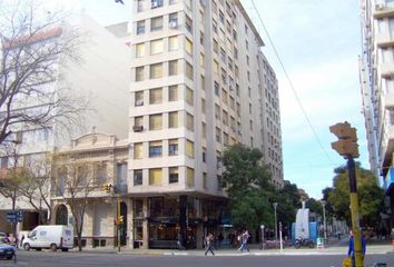
{"type": "Polygon", "coordinates": [[[352,228],[353,228],[353,248],[356,267],[364,267],[364,259],[362,255],[362,236],[359,233],[359,211],[358,211],[358,196],[356,168],[353,157],[347,158],[347,172],[349,181],[351,195],[351,212],[352,212],[352,228]]]}

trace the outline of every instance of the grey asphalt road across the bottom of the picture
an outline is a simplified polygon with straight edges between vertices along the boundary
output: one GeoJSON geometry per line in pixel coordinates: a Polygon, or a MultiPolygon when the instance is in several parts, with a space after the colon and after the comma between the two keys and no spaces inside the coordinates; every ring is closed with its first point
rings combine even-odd
{"type": "MultiPolygon", "coordinates": [[[[18,261],[0,259],[0,266],[29,267],[341,267],[341,255],[299,256],[141,256],[88,253],[20,251],[18,261]]],[[[365,266],[386,263],[394,267],[394,255],[367,255],[365,266]]]]}

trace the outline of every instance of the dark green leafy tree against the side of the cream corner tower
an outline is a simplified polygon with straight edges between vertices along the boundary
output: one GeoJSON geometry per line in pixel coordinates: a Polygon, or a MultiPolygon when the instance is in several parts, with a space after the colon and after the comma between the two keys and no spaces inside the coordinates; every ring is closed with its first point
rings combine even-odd
{"type": "Polygon", "coordinates": [[[242,145],[225,150],[224,186],[228,209],[236,227],[257,229],[260,224],[273,226],[274,215],[268,199],[275,190],[270,174],[260,165],[262,152],[242,145]]]}

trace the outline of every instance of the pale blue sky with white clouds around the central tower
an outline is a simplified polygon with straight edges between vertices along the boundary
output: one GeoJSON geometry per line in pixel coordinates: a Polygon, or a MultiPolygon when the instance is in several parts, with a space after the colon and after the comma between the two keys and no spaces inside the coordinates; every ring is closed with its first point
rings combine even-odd
{"type": "MultiPolygon", "coordinates": [[[[47,0],[81,9],[102,26],[130,19],[134,0],[47,0]]],[[[309,197],[333,186],[334,168],[345,164],[332,148],[328,127],[348,121],[357,129],[359,161],[370,168],[358,85],[361,19],[358,0],[254,0],[294,90],[254,9],[242,0],[265,42],[263,52],[279,82],[284,178],[309,197]],[[296,100],[307,115],[313,130],[296,100]],[[314,132],[316,135],[314,135],[314,132]]]]}

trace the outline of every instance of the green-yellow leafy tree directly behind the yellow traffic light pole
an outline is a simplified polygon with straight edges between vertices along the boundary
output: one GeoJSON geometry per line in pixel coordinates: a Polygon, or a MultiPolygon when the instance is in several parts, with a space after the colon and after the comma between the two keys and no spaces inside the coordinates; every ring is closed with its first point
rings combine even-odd
{"type": "MultiPolygon", "coordinates": [[[[351,224],[348,177],[346,167],[335,170],[333,188],[328,190],[328,202],[334,209],[335,217],[351,224]]],[[[356,180],[359,200],[359,219],[362,226],[375,226],[380,221],[380,211],[383,207],[384,191],[377,185],[377,178],[370,170],[356,164],[356,180]]]]}

